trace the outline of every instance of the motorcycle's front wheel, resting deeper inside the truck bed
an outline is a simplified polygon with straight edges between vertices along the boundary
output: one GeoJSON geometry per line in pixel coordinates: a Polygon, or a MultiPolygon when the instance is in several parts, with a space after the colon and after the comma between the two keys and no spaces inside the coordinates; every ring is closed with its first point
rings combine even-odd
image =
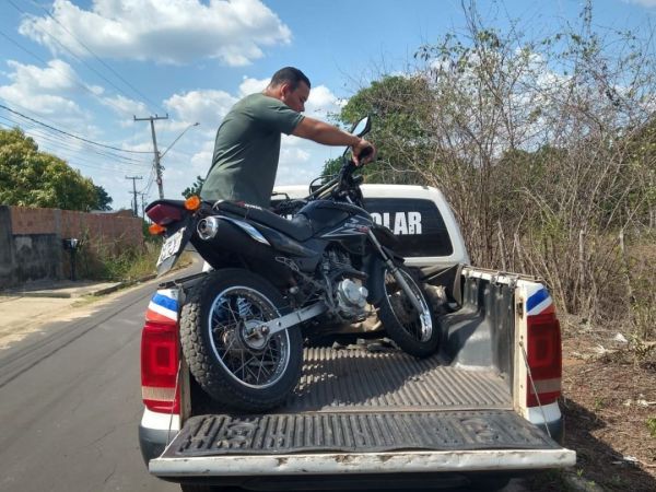
{"type": "Polygon", "coordinates": [[[407,267],[399,272],[410,286],[421,309],[408,297],[391,271],[384,274],[385,293],[378,306],[383,327],[403,351],[418,358],[432,355],[440,344],[440,330],[426,293],[407,267]]]}

